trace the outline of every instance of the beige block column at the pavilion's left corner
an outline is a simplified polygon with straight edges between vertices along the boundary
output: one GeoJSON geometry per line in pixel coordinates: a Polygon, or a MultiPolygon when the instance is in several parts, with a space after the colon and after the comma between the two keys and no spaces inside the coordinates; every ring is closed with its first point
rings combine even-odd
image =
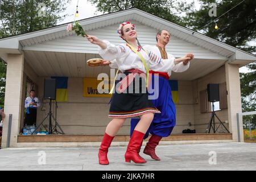
{"type": "Polygon", "coordinates": [[[7,145],[7,132],[9,114],[13,114],[11,124],[10,147],[16,147],[22,116],[22,86],[23,86],[24,55],[9,54],[7,56],[6,90],[5,90],[5,114],[3,123],[2,148],[7,145]]]}

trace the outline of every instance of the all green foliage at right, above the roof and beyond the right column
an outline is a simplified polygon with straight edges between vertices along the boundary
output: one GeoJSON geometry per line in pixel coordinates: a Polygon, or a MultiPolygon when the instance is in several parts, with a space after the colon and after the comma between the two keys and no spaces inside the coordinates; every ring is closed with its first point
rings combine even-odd
{"type": "MultiPolygon", "coordinates": [[[[187,9],[187,15],[184,16],[187,27],[203,32],[210,38],[220,40],[230,46],[256,53],[256,47],[248,44],[256,40],[255,0],[245,0],[243,2],[242,0],[199,0],[199,2],[201,5],[199,10],[187,9]],[[212,9],[212,6],[209,6],[210,3],[216,3],[217,16],[209,16],[209,10],[212,9]],[[240,5],[238,5],[239,3],[240,5]],[[233,7],[234,9],[232,9],[233,7]],[[228,13],[226,13],[227,11],[228,13]],[[224,15],[221,16],[222,14],[224,15]],[[221,17],[216,20],[218,26],[216,30],[214,28],[215,23],[212,21],[218,16],[221,17]],[[209,22],[212,23],[208,24],[209,22]],[[208,25],[205,26],[206,24],[208,25]]],[[[242,110],[244,112],[256,110],[256,64],[250,64],[247,68],[251,72],[240,74],[242,110]]],[[[248,121],[250,117],[248,116],[245,119],[248,121]]],[[[252,119],[256,125],[256,116],[254,115],[252,119]]]]}

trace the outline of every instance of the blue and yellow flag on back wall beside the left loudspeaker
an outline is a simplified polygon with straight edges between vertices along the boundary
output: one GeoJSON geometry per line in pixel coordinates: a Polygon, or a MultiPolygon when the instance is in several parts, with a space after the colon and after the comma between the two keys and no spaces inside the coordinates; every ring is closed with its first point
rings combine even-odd
{"type": "Polygon", "coordinates": [[[56,101],[68,101],[68,77],[52,77],[56,79],[56,101]]]}

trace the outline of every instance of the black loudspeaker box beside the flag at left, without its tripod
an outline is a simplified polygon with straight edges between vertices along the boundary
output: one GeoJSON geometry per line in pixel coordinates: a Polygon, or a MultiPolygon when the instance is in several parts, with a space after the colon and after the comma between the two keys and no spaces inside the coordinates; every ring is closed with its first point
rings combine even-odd
{"type": "Polygon", "coordinates": [[[44,80],[44,99],[56,100],[56,80],[45,79],[44,80]]]}

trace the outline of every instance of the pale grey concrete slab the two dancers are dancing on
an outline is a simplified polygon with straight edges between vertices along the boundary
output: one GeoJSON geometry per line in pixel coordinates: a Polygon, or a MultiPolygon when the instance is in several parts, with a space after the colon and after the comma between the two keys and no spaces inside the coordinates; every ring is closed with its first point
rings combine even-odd
{"type": "Polygon", "coordinates": [[[8,148],[0,150],[0,170],[256,170],[256,143],[162,145],[156,150],[162,160],[141,154],[143,165],[125,163],[125,151],[110,147],[110,164],[101,166],[98,147],[8,148]]]}

